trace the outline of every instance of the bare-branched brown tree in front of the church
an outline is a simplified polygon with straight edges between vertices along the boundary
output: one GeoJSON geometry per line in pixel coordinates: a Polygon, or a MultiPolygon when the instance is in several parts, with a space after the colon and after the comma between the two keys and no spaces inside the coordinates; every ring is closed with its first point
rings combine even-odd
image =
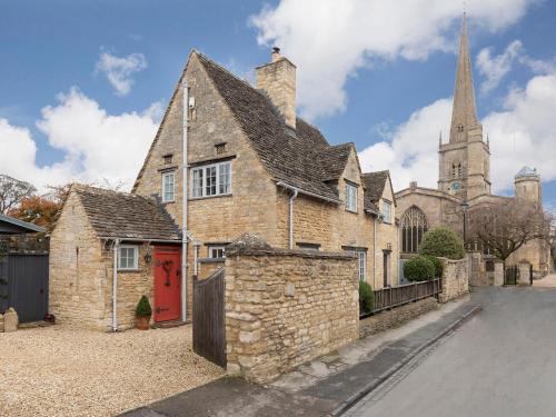
{"type": "Polygon", "coordinates": [[[536,205],[512,199],[488,202],[469,210],[471,238],[502,261],[533,240],[550,237],[550,218],[536,205]]]}

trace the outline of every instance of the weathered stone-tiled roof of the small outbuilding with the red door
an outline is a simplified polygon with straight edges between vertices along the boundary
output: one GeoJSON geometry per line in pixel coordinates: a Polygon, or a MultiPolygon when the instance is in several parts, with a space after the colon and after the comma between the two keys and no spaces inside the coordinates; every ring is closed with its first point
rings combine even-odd
{"type": "Polygon", "coordinates": [[[73,186],[99,237],[180,240],[178,226],[155,199],[95,187],[73,186]]]}

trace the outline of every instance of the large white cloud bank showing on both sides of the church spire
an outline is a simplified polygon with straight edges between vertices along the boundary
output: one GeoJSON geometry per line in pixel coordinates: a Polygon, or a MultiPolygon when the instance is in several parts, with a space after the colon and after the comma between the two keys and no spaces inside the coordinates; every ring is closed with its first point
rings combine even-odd
{"type": "MultiPolygon", "coordinates": [[[[361,152],[364,171],[389,169],[396,190],[409,181],[436,188],[438,179],[438,130],[447,140],[451,98],[415,111],[391,132],[391,141],[375,143],[361,152]]],[[[556,71],[532,78],[525,88],[512,90],[500,111],[483,120],[492,152],[493,191],[510,191],[523,166],[539,170],[544,181],[556,179],[556,71]]]]}

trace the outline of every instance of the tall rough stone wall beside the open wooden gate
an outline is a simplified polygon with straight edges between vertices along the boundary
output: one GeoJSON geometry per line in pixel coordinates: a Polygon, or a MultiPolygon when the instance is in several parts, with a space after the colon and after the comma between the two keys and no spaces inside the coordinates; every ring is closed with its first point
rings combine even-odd
{"type": "Polygon", "coordinates": [[[355,257],[272,249],[260,241],[228,248],[229,374],[257,384],[271,381],[357,340],[358,325],[355,257]]]}

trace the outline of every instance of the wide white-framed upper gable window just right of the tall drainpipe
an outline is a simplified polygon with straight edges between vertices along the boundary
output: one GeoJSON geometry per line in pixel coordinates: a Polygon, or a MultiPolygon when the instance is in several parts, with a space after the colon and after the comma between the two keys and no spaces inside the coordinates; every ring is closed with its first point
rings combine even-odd
{"type": "Polygon", "coordinates": [[[231,193],[231,162],[219,162],[191,170],[191,197],[231,193]]]}

